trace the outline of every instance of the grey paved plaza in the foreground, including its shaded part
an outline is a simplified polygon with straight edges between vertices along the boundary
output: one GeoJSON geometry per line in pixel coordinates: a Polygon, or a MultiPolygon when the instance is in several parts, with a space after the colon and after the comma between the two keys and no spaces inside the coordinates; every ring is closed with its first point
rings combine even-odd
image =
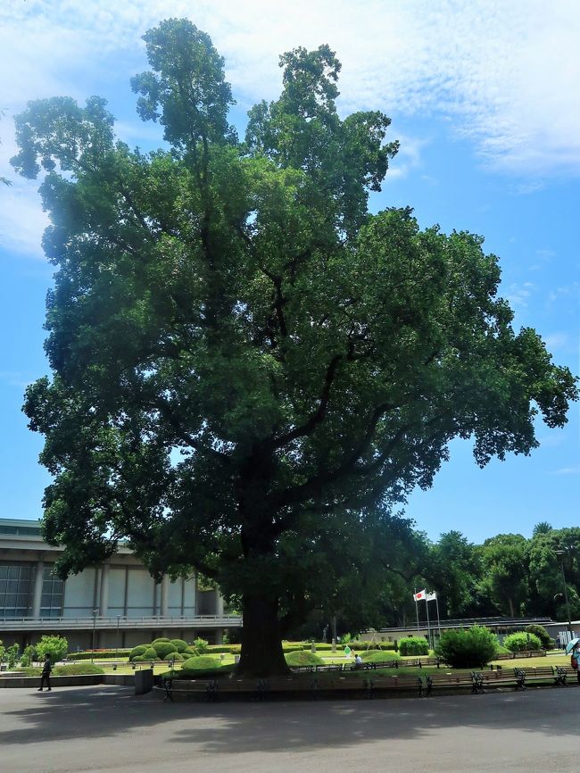
{"type": "Polygon", "coordinates": [[[0,690],[2,773],[580,771],[580,689],[163,703],[117,686],[0,690]]]}

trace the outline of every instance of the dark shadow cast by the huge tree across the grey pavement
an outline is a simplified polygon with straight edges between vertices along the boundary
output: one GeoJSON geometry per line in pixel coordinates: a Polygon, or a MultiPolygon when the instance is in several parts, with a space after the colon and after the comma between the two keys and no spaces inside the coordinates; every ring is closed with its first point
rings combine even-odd
{"type": "MultiPolygon", "coordinates": [[[[526,693],[315,702],[163,702],[129,688],[62,688],[0,695],[0,746],[106,739],[155,727],[162,743],[200,752],[287,752],[415,740],[443,728],[576,736],[576,686],[526,693]]],[[[20,691],[18,691],[20,692],[20,691]]]]}

